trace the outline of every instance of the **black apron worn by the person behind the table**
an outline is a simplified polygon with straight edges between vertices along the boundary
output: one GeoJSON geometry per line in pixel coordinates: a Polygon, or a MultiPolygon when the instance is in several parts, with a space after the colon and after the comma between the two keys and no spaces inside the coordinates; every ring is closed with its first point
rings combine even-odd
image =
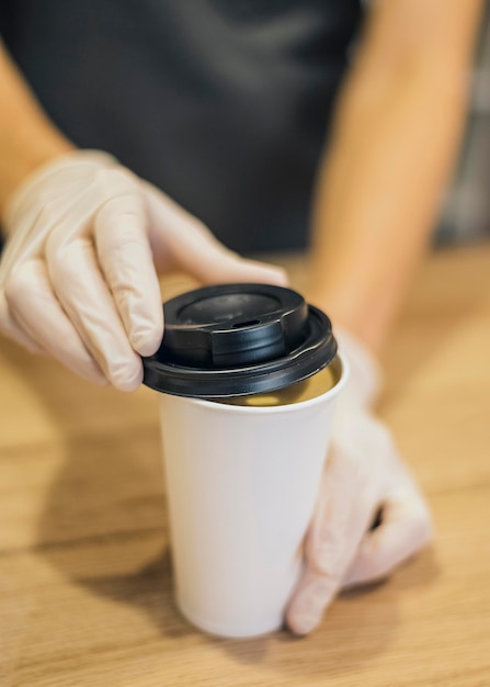
{"type": "Polygon", "coordinates": [[[307,244],[311,188],[360,0],[1,0],[53,121],[115,155],[231,248],[307,244]]]}

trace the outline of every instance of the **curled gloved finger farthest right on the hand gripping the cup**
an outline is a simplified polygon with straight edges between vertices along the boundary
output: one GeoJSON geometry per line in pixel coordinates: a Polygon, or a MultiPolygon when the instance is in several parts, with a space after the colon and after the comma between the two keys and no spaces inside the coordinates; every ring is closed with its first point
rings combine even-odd
{"type": "Polygon", "coordinates": [[[343,586],[383,579],[432,538],[428,508],[413,495],[387,502],[379,527],[367,532],[343,579],[343,586]]]}

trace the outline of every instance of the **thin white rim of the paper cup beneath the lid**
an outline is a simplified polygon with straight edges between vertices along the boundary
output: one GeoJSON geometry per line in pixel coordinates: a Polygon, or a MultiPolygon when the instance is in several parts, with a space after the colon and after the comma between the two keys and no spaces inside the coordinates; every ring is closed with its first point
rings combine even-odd
{"type": "MultiPolygon", "coordinates": [[[[274,415],[278,413],[297,413],[299,409],[309,408],[310,406],[315,406],[331,397],[337,396],[342,388],[345,386],[345,383],[349,379],[350,368],[346,359],[341,354],[337,353],[335,358],[332,360],[334,362],[339,360],[341,365],[341,374],[340,379],[334,386],[326,391],[323,394],[319,396],[315,396],[314,398],[308,398],[306,401],[299,401],[298,403],[289,403],[277,406],[240,406],[227,404],[221,401],[218,403],[217,401],[208,401],[205,398],[192,398],[189,396],[172,396],[172,398],[180,398],[181,401],[191,402],[193,405],[197,405],[204,408],[208,408],[210,410],[217,410],[219,413],[238,413],[238,414],[248,414],[248,415],[274,415]]],[[[169,396],[169,394],[166,394],[169,396]]]]}

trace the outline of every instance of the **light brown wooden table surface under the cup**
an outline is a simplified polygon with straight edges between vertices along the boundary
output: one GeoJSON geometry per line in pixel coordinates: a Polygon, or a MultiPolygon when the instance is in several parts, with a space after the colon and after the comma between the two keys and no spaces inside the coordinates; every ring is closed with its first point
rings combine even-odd
{"type": "Polygon", "coordinates": [[[92,388],[2,340],[0,685],[489,686],[490,248],[428,260],[386,369],[381,415],[434,545],[307,639],[228,641],[172,602],[156,395],[92,388]]]}

